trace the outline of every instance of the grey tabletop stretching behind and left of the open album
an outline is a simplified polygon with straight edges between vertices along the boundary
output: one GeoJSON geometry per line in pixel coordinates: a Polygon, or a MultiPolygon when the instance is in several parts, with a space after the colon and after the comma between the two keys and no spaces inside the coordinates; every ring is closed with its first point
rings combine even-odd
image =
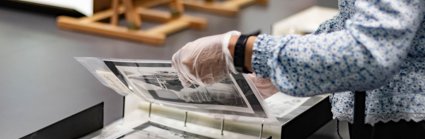
{"type": "Polygon", "coordinates": [[[207,18],[208,27],[172,34],[159,47],[60,30],[55,16],[0,7],[0,138],[22,137],[102,101],[105,124],[122,116],[122,98],[74,57],[169,60],[185,43],[202,36],[229,30],[270,33],[273,23],[316,3],[269,0],[234,17],[188,10],[207,18]]]}

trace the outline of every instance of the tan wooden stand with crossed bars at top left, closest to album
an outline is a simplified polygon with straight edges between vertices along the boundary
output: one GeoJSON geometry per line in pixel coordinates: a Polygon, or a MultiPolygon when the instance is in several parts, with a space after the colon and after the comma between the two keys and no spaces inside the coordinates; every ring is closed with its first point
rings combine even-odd
{"type": "MultiPolygon", "coordinates": [[[[155,45],[164,43],[165,37],[168,34],[188,27],[204,29],[207,25],[207,21],[204,18],[186,15],[176,18],[172,17],[170,12],[152,10],[145,7],[133,7],[134,5],[131,3],[132,0],[122,0],[124,6],[120,6],[119,3],[117,4],[117,1],[119,0],[113,1],[113,8],[98,12],[91,17],[71,18],[60,16],[57,20],[57,24],[63,29],[123,38],[155,45]],[[161,22],[161,24],[148,30],[132,30],[126,27],[120,27],[118,26],[119,15],[124,12],[126,12],[127,21],[135,24],[136,26],[141,25],[140,18],[144,21],[151,20],[161,22]],[[112,18],[111,23],[98,22],[107,18],[112,18]],[[140,23],[137,23],[137,21],[140,23]]],[[[179,2],[179,0],[175,2],[179,2]]],[[[174,5],[176,4],[178,3],[174,3],[174,5]]]]}

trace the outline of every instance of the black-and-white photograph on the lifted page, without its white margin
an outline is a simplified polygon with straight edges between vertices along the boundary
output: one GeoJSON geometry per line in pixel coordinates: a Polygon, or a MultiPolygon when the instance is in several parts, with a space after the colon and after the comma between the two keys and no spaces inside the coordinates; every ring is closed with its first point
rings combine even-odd
{"type": "Polygon", "coordinates": [[[210,86],[183,87],[169,63],[113,64],[128,87],[149,101],[253,113],[243,93],[238,91],[238,86],[230,77],[210,86]]]}

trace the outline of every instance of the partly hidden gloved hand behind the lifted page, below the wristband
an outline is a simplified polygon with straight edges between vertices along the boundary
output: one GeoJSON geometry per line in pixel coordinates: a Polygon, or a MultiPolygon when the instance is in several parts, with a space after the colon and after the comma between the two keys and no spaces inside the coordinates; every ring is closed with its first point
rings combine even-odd
{"type": "Polygon", "coordinates": [[[263,97],[263,99],[266,99],[273,94],[279,92],[277,88],[273,85],[272,81],[270,79],[264,79],[255,76],[255,74],[249,74],[248,79],[251,80],[252,83],[254,83],[255,87],[257,88],[258,92],[260,92],[260,95],[263,97]]]}

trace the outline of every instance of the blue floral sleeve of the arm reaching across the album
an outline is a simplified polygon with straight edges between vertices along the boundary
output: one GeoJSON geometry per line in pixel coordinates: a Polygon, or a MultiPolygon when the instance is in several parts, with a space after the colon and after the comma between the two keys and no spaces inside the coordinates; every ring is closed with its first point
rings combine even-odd
{"type": "Polygon", "coordinates": [[[423,0],[358,0],[345,29],[305,36],[262,34],[253,48],[257,76],[294,96],[369,90],[398,70],[424,18],[423,0]]]}

